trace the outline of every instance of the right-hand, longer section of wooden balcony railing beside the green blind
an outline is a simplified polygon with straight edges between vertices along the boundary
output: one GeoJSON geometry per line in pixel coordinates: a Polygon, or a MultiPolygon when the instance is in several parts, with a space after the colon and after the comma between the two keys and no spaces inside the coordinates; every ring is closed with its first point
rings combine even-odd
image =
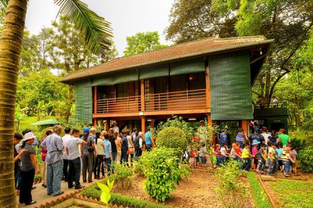
{"type": "Polygon", "coordinates": [[[145,110],[184,110],[207,107],[205,89],[145,95],[145,110]]]}

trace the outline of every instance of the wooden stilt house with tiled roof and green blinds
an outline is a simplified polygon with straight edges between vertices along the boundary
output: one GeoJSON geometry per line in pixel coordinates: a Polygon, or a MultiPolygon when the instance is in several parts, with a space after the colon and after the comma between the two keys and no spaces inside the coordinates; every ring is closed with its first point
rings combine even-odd
{"type": "Polygon", "coordinates": [[[82,123],[109,128],[118,121],[144,132],[176,115],[247,130],[251,86],[271,43],[262,36],[210,37],[116,58],[62,82],[74,85],[75,119],[82,123]]]}

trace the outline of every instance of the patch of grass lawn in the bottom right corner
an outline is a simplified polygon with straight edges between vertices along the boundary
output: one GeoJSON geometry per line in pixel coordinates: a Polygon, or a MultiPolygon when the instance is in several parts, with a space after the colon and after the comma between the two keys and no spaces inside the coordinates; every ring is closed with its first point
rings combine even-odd
{"type": "Polygon", "coordinates": [[[313,205],[313,183],[298,180],[268,182],[283,207],[309,208],[313,205]]]}

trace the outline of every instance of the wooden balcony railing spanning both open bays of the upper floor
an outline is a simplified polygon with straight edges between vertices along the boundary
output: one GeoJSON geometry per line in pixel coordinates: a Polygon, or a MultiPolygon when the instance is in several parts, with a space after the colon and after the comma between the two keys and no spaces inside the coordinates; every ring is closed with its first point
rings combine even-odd
{"type": "MultiPolygon", "coordinates": [[[[145,95],[145,111],[207,107],[205,89],[145,95]]],[[[141,96],[97,100],[97,113],[141,112],[141,96]]]]}

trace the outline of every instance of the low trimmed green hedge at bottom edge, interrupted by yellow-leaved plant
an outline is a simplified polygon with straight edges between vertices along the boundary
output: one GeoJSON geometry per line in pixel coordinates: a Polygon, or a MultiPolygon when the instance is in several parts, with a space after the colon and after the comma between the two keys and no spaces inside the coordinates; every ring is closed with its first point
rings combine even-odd
{"type": "MultiPolygon", "coordinates": [[[[101,191],[97,188],[97,186],[92,185],[87,189],[81,192],[82,196],[91,197],[99,200],[101,191]]],[[[119,193],[111,193],[110,203],[113,205],[122,205],[124,207],[134,207],[134,208],[168,208],[165,205],[156,205],[152,202],[147,202],[145,200],[138,200],[131,196],[125,196],[119,193]]]]}

